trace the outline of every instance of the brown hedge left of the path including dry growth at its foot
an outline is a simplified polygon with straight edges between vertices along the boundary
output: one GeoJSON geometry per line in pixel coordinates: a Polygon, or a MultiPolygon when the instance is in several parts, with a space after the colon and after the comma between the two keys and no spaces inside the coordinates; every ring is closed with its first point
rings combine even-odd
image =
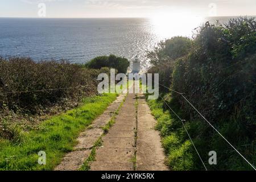
{"type": "Polygon", "coordinates": [[[110,69],[85,68],[65,60],[0,57],[0,138],[13,140],[16,127],[30,131],[49,115],[79,106],[97,94],[97,76],[110,69]]]}

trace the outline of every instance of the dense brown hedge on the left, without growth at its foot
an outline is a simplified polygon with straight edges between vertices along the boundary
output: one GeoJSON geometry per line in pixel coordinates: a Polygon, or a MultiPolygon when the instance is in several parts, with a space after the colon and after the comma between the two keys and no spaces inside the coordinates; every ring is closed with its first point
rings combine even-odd
{"type": "Polygon", "coordinates": [[[101,72],[109,68],[82,68],[65,60],[36,63],[26,57],[1,58],[0,108],[36,114],[68,98],[96,94],[101,72]]]}

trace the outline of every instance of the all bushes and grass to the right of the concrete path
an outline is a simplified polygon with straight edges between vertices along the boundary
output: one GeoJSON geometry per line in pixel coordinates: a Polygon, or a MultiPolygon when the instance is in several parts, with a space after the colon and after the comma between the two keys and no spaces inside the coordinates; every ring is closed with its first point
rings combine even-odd
{"type": "MultiPolygon", "coordinates": [[[[150,52],[160,84],[184,96],[256,166],[256,22],[230,19],[226,24],[205,23],[195,39],[172,38],[150,52]],[[170,46],[171,45],[171,46],[170,46]],[[180,47],[184,47],[180,49],[180,47]],[[181,50],[181,51],[177,51],[181,50]],[[153,56],[152,56],[153,55],[153,56]]],[[[162,88],[162,94],[187,127],[205,165],[212,170],[252,169],[180,94],[162,88]],[[208,164],[208,152],[217,152],[217,165],[208,164]]],[[[183,126],[171,118],[168,107],[150,101],[171,169],[204,169],[183,126]],[[166,113],[167,112],[167,113],[166,113]],[[185,168],[181,150],[185,148],[185,168]]]]}

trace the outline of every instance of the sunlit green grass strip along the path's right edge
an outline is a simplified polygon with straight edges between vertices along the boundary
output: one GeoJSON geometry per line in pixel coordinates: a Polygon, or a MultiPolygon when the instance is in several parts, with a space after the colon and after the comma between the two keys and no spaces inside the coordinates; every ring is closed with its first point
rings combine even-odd
{"type": "Polygon", "coordinates": [[[172,118],[168,110],[163,110],[163,102],[147,100],[148,105],[157,120],[156,129],[160,131],[162,146],[167,156],[166,164],[174,171],[194,169],[192,143],[187,136],[184,139],[184,130],[180,121],[172,118]]]}

